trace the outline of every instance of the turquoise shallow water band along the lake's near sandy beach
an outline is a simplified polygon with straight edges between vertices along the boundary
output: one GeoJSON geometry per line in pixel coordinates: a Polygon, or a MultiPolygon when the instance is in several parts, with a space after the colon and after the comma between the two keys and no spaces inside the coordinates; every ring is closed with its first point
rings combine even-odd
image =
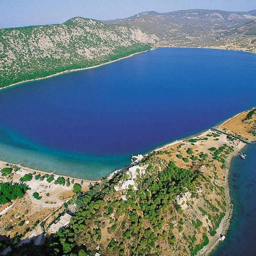
{"type": "Polygon", "coordinates": [[[1,160],[15,164],[24,161],[23,166],[48,172],[55,171],[66,176],[97,180],[118,166],[129,163],[127,156],[97,157],[56,151],[38,146],[4,130],[0,130],[0,138],[1,160]]]}

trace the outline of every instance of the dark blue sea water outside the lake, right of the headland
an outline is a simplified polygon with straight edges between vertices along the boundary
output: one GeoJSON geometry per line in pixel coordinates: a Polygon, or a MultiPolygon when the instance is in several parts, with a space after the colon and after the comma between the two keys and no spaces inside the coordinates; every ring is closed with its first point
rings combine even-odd
{"type": "Polygon", "coordinates": [[[246,160],[235,157],[231,162],[233,216],[226,239],[212,256],[256,255],[256,143],[249,144],[243,153],[246,160]]]}

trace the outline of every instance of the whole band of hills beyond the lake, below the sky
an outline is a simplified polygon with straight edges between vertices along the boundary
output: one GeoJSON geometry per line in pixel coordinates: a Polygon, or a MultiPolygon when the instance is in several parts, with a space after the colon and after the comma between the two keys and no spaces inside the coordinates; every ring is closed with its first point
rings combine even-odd
{"type": "Polygon", "coordinates": [[[151,11],[104,22],[75,17],[63,24],[0,29],[0,87],[160,46],[256,52],[256,11],[151,11]]]}

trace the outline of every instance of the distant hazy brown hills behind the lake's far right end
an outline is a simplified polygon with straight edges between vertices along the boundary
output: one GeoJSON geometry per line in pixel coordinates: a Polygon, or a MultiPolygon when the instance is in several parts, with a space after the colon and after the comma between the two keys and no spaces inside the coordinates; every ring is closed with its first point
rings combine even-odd
{"type": "Polygon", "coordinates": [[[106,23],[130,24],[149,35],[155,34],[161,39],[158,46],[218,47],[255,52],[256,35],[254,29],[250,28],[255,20],[255,10],[228,12],[192,9],[167,13],[142,12],[106,23]]]}

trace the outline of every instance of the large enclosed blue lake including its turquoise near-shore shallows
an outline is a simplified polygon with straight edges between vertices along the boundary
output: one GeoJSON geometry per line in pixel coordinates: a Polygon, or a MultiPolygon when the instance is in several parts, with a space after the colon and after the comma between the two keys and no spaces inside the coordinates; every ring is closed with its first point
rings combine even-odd
{"type": "Polygon", "coordinates": [[[0,91],[0,159],[96,179],[256,105],[256,55],[160,48],[0,91]]]}

